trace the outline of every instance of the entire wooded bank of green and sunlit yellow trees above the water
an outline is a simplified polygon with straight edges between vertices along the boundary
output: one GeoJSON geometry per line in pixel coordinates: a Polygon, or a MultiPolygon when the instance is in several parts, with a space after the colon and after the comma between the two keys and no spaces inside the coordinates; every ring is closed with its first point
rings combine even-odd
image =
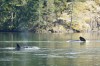
{"type": "Polygon", "coordinates": [[[0,0],[1,32],[90,32],[99,26],[99,0],[0,0]]]}

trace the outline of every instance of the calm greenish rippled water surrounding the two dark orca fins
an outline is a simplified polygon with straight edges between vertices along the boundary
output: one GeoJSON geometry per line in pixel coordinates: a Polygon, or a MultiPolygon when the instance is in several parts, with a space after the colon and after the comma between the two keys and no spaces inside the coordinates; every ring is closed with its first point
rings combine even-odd
{"type": "Polygon", "coordinates": [[[100,66],[99,33],[0,33],[0,66],[100,66]],[[74,41],[84,36],[87,42],[74,41]],[[16,43],[22,48],[15,50],[16,43]]]}

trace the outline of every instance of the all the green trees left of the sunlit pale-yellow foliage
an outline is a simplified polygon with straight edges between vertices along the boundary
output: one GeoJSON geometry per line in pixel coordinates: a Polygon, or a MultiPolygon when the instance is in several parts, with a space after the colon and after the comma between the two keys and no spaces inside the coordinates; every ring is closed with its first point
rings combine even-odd
{"type": "Polygon", "coordinates": [[[68,2],[86,0],[0,0],[0,30],[30,30],[53,23],[68,2]]]}

